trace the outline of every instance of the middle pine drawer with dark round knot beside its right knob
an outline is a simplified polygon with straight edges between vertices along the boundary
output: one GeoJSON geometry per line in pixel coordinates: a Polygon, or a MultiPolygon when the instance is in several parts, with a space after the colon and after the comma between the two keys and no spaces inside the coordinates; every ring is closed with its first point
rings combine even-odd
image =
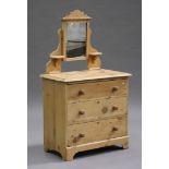
{"type": "Polygon", "coordinates": [[[68,123],[86,122],[126,113],[126,97],[68,104],[68,123]]]}

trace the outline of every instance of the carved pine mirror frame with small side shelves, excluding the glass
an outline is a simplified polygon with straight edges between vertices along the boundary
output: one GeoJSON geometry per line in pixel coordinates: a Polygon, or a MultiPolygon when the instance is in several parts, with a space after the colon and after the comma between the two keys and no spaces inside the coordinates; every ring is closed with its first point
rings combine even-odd
{"type": "Polygon", "coordinates": [[[90,20],[87,14],[80,10],[74,10],[70,12],[69,15],[61,19],[61,28],[58,29],[58,36],[59,36],[59,45],[58,47],[49,55],[50,60],[46,64],[46,73],[58,73],[61,72],[62,62],[63,61],[77,61],[77,60],[85,60],[87,61],[87,69],[100,69],[101,61],[100,56],[101,52],[98,52],[97,49],[95,49],[92,46],[90,43],[90,20]],[[86,29],[86,56],[81,57],[67,57],[67,43],[65,43],[65,28],[68,22],[85,22],[87,23],[87,29],[86,29]]]}

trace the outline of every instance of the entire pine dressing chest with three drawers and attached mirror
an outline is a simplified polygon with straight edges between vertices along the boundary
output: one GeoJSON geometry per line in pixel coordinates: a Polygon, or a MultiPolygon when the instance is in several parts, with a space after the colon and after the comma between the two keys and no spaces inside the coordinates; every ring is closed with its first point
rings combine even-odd
{"type": "Polygon", "coordinates": [[[121,145],[128,148],[128,88],[131,74],[101,69],[90,45],[89,16],[75,10],[62,19],[59,47],[41,74],[44,148],[64,160],[79,152],[121,145]],[[63,61],[85,60],[87,70],[61,72],[63,61]]]}

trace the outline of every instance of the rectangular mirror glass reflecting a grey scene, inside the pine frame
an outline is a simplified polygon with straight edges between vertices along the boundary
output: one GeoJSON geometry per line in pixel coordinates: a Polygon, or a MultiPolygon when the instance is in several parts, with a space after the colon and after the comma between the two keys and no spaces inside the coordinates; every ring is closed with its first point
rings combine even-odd
{"type": "Polygon", "coordinates": [[[67,28],[67,57],[86,56],[86,29],[83,22],[68,23],[67,28]]]}

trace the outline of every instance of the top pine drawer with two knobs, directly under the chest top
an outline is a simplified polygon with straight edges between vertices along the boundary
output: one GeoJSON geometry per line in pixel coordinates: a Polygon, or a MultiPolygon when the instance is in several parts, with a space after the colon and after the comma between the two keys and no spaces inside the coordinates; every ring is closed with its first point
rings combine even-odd
{"type": "Polygon", "coordinates": [[[128,79],[67,85],[68,100],[128,95],[128,79]]]}

